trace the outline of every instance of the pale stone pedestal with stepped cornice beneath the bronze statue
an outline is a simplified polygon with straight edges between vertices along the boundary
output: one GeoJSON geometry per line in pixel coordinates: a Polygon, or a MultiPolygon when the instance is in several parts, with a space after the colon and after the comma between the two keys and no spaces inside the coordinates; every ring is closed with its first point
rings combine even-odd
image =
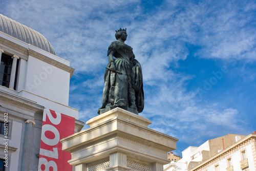
{"type": "Polygon", "coordinates": [[[76,171],[162,171],[177,138],[149,129],[152,122],[120,108],[87,121],[91,127],[61,140],[76,171]]]}

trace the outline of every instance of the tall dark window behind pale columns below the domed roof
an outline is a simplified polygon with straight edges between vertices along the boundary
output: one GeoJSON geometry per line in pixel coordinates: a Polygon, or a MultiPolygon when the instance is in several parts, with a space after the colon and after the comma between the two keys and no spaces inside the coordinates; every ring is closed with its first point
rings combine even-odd
{"type": "MultiPolygon", "coordinates": [[[[12,70],[12,57],[7,54],[2,54],[1,63],[0,63],[0,85],[9,88],[10,79],[11,79],[11,70],[12,70]]],[[[17,60],[17,67],[18,67],[17,60]]],[[[16,81],[17,81],[17,71],[15,73],[15,82],[14,82],[14,90],[16,90],[16,81]]]]}

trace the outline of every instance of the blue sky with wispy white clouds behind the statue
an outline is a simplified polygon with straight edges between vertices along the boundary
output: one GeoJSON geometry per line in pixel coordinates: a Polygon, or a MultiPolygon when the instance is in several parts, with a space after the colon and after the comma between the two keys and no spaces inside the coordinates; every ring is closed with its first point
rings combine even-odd
{"type": "MultiPolygon", "coordinates": [[[[151,129],[179,139],[175,153],[256,131],[255,1],[2,0],[0,13],[44,35],[71,62],[70,106],[86,122],[101,106],[115,30],[143,71],[151,129]]],[[[87,129],[89,126],[85,126],[87,129]]]]}

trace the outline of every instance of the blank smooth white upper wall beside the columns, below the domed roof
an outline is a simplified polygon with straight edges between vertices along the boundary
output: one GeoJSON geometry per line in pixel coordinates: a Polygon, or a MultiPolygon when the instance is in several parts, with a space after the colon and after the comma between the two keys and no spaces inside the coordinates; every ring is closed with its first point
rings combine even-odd
{"type": "Polygon", "coordinates": [[[25,90],[68,105],[70,73],[29,56],[26,75],[25,90]]]}

